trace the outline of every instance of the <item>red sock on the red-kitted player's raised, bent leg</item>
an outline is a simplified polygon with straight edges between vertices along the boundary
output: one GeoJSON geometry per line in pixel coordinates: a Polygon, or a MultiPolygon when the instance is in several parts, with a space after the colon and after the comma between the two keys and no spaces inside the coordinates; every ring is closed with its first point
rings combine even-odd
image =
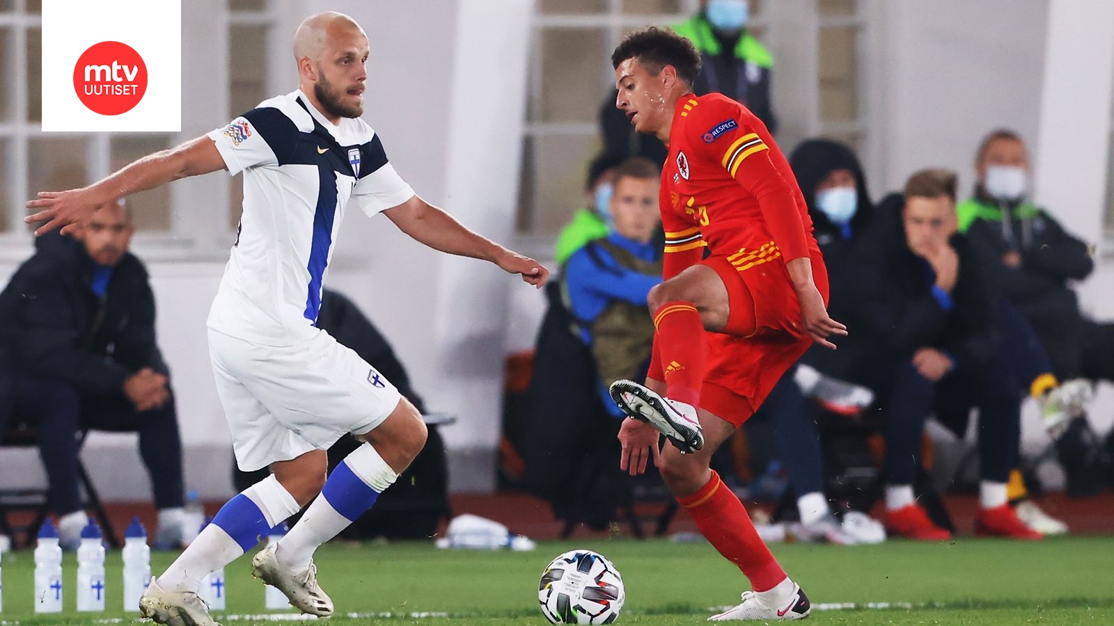
{"type": "Polygon", "coordinates": [[[665,395],[700,407],[704,380],[704,323],[691,302],[666,302],[654,312],[655,348],[665,371],[665,395]]]}

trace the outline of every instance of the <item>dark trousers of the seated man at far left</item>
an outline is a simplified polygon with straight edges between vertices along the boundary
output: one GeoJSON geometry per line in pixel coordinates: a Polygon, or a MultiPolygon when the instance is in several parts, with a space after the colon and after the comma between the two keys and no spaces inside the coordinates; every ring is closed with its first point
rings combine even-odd
{"type": "Polygon", "coordinates": [[[81,508],[78,493],[78,436],[82,430],[139,433],[139,456],[147,466],[159,509],[182,506],[182,440],[174,395],[158,409],[139,413],[124,397],[81,393],[70,383],[21,376],[16,381],[14,421],[39,432],[39,456],[47,470],[50,508],[58,515],[81,508]]]}

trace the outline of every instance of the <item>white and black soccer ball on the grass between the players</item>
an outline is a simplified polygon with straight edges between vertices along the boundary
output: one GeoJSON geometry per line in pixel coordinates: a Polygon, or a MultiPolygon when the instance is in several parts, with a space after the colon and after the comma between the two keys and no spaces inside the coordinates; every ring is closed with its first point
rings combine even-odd
{"type": "Polygon", "coordinates": [[[538,584],[538,604],[550,624],[610,624],[625,599],[619,570],[592,550],[555,558],[538,584]]]}

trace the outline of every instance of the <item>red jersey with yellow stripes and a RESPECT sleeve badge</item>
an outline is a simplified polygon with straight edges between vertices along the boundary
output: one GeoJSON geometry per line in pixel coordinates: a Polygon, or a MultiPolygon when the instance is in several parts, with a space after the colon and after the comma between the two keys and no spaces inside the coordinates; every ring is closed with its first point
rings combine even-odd
{"type": "Polygon", "coordinates": [[[722,94],[677,101],[659,199],[666,278],[701,258],[673,253],[705,245],[741,273],[819,255],[789,162],[765,125],[722,94]]]}

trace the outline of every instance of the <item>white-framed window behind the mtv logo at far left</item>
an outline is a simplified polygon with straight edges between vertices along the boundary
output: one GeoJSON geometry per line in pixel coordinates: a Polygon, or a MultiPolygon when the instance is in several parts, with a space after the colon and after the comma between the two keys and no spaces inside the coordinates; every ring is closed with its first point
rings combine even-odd
{"type": "MultiPolygon", "coordinates": [[[[216,0],[214,4],[226,25],[228,58],[235,62],[228,62],[227,86],[217,86],[213,95],[226,99],[231,118],[266,97],[276,20],[272,0],[216,0]]],[[[0,0],[0,68],[4,71],[0,79],[0,159],[8,164],[0,169],[0,243],[14,247],[29,243],[23,203],[35,193],[87,185],[179,140],[166,133],[42,133],[41,13],[41,0],[0,0]]],[[[184,63],[196,53],[186,46],[184,63]]],[[[232,187],[237,190],[231,195],[237,197],[229,198],[228,217],[214,215],[214,222],[231,224],[229,231],[240,217],[238,179],[232,187]]],[[[212,233],[184,232],[176,223],[167,186],[134,194],[128,202],[140,241],[212,239],[212,233]]]]}

